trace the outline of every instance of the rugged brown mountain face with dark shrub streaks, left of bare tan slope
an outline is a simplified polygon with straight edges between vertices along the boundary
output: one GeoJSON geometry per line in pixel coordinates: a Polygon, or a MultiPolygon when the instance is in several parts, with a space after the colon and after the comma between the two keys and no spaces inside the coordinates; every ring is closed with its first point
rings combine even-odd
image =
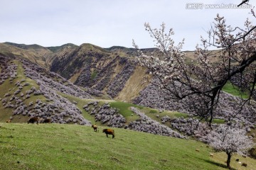
{"type": "Polygon", "coordinates": [[[63,55],[56,53],[50,71],[57,72],[78,86],[97,89],[116,98],[136,68],[129,57],[125,52],[111,52],[83,44],[63,55]]]}

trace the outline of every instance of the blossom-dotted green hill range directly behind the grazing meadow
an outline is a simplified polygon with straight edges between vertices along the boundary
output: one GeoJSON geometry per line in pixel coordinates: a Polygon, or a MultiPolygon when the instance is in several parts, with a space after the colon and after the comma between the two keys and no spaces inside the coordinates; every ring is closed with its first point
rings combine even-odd
{"type": "MultiPolygon", "coordinates": [[[[24,123],[28,117],[51,118],[53,123],[99,125],[163,133],[167,136],[183,137],[178,132],[155,120],[146,118],[144,125],[137,125],[139,116],[133,115],[132,104],[95,99],[102,93],[95,89],[80,89],[63,77],[28,60],[12,60],[1,57],[0,122],[24,123]],[[100,102],[99,102],[100,101],[100,102]],[[107,103],[106,103],[107,102],[107,103]],[[110,103],[110,104],[109,104],[110,103]],[[90,106],[92,105],[92,106],[90,106]],[[113,106],[113,107],[112,107],[113,106]],[[120,108],[125,108],[124,110],[120,108]],[[120,108],[120,109],[119,109],[120,108]]],[[[137,106],[135,106],[137,107],[137,106]]],[[[142,108],[142,107],[141,107],[142,108]]],[[[143,120],[145,121],[145,118],[143,120]]]]}

